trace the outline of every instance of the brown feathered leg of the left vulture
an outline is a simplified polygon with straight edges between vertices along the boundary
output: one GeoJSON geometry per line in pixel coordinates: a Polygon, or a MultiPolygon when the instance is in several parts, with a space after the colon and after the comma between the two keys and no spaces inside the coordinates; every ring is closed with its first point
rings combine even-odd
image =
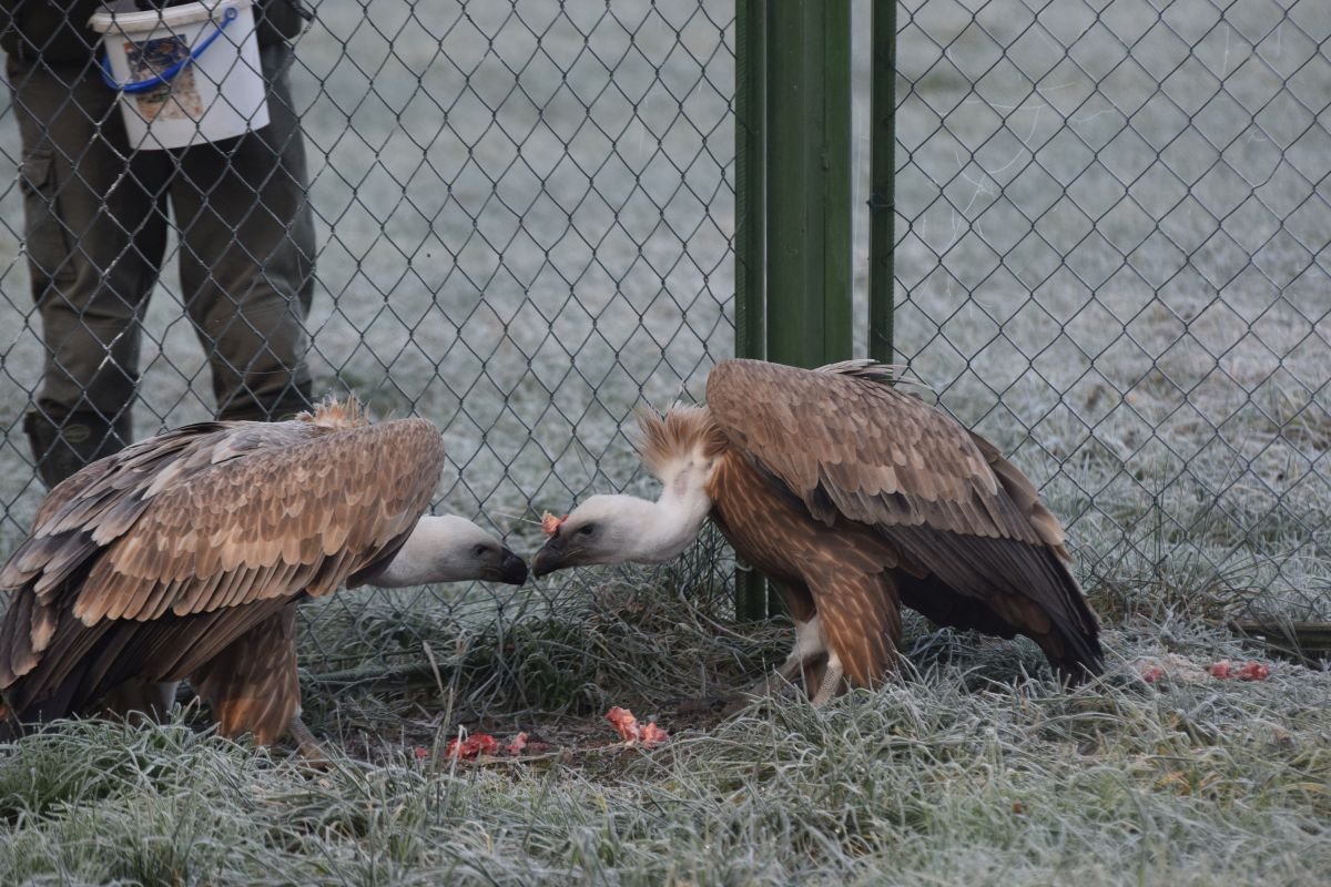
{"type": "MultiPolygon", "coordinates": [[[[190,686],[213,709],[221,734],[254,734],[272,745],[299,723],[301,688],[295,674],[295,605],[268,617],[196,670],[190,686]]],[[[305,725],[295,729],[301,754],[313,743],[305,725]],[[299,735],[303,731],[303,735],[299,735]]],[[[318,746],[314,743],[314,749],[318,746]]],[[[311,750],[311,751],[313,751],[311,750]]],[[[322,757],[315,755],[315,757],[322,757]]]]}

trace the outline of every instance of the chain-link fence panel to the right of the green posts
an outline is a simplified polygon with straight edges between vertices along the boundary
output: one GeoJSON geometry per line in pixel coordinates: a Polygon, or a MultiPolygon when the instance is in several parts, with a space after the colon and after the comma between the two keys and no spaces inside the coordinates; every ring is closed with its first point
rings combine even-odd
{"type": "Polygon", "coordinates": [[[1328,37],[1311,1],[900,8],[897,347],[1091,585],[1331,610],[1328,37]]]}

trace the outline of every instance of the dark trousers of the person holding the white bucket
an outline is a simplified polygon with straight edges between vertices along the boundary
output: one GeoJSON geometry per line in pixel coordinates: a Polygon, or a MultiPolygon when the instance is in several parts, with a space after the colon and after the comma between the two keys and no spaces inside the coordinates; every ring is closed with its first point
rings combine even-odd
{"type": "Polygon", "coordinates": [[[48,485],[132,438],[140,324],[172,229],[180,301],[218,418],[307,406],[314,222],[291,57],[285,43],[262,49],[268,126],[173,150],[130,149],[96,63],[8,60],[24,249],[47,351],[25,430],[48,485]]]}

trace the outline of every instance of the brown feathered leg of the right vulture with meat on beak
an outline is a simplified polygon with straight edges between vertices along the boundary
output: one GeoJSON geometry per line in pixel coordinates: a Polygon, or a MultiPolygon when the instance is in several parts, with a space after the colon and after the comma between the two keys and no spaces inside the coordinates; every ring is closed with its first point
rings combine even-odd
{"type": "Polygon", "coordinates": [[[897,658],[901,606],[888,572],[861,573],[825,569],[809,582],[827,641],[827,673],[813,694],[823,705],[841,689],[841,678],[855,686],[874,688],[897,658]]]}

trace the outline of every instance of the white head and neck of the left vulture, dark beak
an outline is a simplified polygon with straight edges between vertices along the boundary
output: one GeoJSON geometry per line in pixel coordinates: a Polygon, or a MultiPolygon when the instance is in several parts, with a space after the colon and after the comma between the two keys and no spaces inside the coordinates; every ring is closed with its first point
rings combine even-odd
{"type": "Polygon", "coordinates": [[[425,515],[398,553],[358,576],[355,584],[403,588],[475,578],[522,585],[527,564],[466,517],[425,515]]]}

